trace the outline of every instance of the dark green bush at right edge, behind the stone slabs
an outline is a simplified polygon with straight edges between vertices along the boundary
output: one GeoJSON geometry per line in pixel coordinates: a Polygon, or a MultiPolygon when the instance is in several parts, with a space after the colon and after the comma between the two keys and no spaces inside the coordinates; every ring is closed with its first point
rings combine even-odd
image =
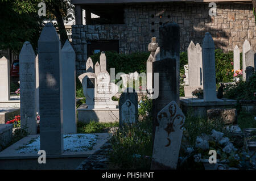
{"type": "Polygon", "coordinates": [[[256,74],[247,82],[240,81],[236,85],[224,88],[224,96],[236,100],[255,100],[254,92],[256,92],[256,74]]]}

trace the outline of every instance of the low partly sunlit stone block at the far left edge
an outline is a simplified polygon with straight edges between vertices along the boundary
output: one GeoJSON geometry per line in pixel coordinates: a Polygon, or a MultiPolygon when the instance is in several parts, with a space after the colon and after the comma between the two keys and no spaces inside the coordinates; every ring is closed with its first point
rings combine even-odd
{"type": "Polygon", "coordinates": [[[0,107],[0,124],[5,124],[7,121],[20,114],[19,108],[1,108],[0,107]]]}

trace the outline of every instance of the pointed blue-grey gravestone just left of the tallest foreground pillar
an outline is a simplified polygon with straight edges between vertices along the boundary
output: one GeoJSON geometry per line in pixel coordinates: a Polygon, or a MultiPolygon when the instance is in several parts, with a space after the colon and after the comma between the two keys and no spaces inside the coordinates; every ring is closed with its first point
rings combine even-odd
{"type": "Polygon", "coordinates": [[[19,54],[20,126],[28,134],[36,134],[36,71],[35,53],[30,42],[23,44],[19,54]]]}

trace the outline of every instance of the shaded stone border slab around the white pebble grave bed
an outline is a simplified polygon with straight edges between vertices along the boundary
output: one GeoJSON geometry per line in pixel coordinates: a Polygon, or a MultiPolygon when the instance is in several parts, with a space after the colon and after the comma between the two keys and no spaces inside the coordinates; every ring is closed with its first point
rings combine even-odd
{"type": "Polygon", "coordinates": [[[46,164],[39,164],[37,153],[18,153],[39,134],[28,135],[0,152],[0,170],[75,170],[85,159],[96,153],[111,137],[109,133],[96,133],[97,142],[87,151],[68,151],[58,155],[48,155],[46,164]]]}

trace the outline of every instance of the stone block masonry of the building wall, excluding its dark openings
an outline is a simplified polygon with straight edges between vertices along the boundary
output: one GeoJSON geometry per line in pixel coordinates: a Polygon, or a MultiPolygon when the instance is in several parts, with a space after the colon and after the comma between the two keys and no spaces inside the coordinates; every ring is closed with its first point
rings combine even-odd
{"type": "Polygon", "coordinates": [[[159,41],[160,22],[179,24],[181,52],[187,50],[191,40],[201,45],[205,32],[211,33],[215,48],[224,49],[225,52],[233,50],[236,45],[242,50],[245,39],[249,40],[256,51],[256,26],[251,4],[217,3],[217,16],[209,16],[208,5],[209,3],[127,5],[125,24],[73,25],[72,45],[77,56],[77,74],[85,72],[87,41],[119,40],[119,53],[147,51],[152,36],[159,41]],[[162,19],[159,15],[162,15],[162,19]]]}

